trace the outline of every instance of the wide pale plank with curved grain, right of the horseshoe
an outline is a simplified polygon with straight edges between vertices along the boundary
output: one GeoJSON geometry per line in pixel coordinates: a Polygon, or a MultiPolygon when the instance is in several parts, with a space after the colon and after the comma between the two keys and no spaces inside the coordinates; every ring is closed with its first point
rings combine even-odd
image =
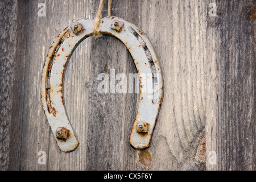
{"type": "Polygon", "coordinates": [[[198,150],[205,135],[204,2],[141,1],[141,7],[139,26],[155,45],[165,87],[148,169],[204,169],[198,150]]]}

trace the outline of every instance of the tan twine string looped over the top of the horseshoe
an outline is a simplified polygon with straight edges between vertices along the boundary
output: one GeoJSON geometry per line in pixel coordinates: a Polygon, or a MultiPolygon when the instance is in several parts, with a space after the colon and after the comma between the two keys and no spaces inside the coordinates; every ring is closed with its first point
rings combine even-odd
{"type": "MultiPolygon", "coordinates": [[[[112,0],[109,0],[108,3],[108,16],[111,15],[111,4],[112,4],[112,0]]],[[[96,18],[94,20],[94,25],[93,25],[93,36],[94,38],[101,38],[102,34],[99,31],[99,27],[100,27],[100,23],[101,23],[101,13],[104,7],[104,0],[100,1],[100,5],[98,6],[98,11],[96,14],[96,18]]]]}

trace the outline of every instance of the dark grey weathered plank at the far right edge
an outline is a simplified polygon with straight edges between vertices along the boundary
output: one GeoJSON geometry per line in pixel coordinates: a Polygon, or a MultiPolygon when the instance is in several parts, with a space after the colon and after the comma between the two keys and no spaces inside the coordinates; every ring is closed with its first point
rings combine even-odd
{"type": "Polygon", "coordinates": [[[216,152],[217,163],[212,163],[214,156],[207,155],[207,169],[252,170],[255,169],[255,38],[247,15],[255,1],[216,4],[217,17],[208,19],[207,28],[206,144],[207,154],[216,152]]]}

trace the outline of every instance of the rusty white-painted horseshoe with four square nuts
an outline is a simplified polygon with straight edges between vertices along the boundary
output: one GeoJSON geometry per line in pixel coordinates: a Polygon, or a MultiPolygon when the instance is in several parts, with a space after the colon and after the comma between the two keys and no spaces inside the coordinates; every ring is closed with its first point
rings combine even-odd
{"type": "MultiPolygon", "coordinates": [[[[42,105],[57,146],[63,152],[72,152],[79,146],[63,100],[65,68],[76,47],[93,35],[93,23],[93,19],[85,18],[65,28],[53,41],[44,62],[42,105]]],[[[129,142],[134,148],[147,148],[163,100],[163,76],[156,52],[143,31],[121,18],[102,18],[99,30],[121,40],[134,59],[139,75],[140,100],[129,142]]]]}

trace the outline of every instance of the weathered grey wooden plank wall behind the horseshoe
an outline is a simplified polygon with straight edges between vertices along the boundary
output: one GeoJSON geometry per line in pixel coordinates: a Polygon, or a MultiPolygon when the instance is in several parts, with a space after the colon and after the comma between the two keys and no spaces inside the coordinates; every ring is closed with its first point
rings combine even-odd
{"type": "Polygon", "coordinates": [[[43,62],[56,36],[94,18],[98,3],[0,1],[0,170],[255,170],[254,0],[113,0],[112,15],[147,34],[162,67],[151,146],[141,152],[129,144],[138,94],[97,92],[98,74],[137,72],[126,47],[104,36],[86,39],[69,62],[65,104],[80,146],[59,151],[40,102],[43,62]]]}

